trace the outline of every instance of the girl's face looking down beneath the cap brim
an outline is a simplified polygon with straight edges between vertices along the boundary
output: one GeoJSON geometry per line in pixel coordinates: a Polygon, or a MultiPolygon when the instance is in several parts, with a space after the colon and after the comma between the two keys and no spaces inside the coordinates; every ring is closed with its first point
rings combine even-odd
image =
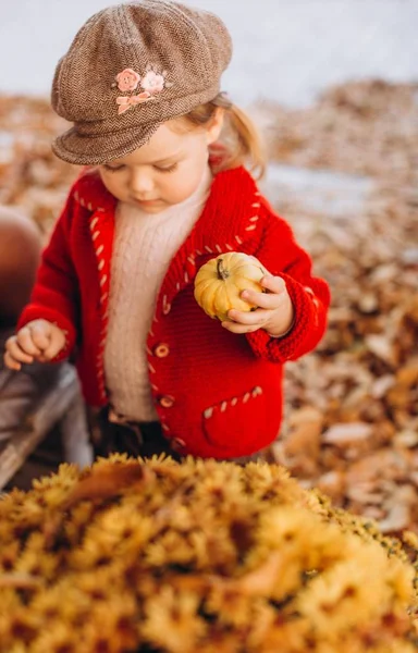
{"type": "Polygon", "coordinates": [[[217,111],[204,127],[185,131],[176,128],[176,121],[163,123],[146,145],[99,167],[104,186],[120,201],[147,213],[184,201],[201,181],[209,145],[219,137],[222,121],[223,112],[217,111]]]}

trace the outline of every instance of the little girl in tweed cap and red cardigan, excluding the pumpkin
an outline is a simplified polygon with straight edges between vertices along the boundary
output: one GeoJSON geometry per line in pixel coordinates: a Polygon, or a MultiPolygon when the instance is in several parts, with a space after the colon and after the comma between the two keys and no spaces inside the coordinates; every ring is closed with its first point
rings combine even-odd
{"type": "Polygon", "coordinates": [[[216,15],[142,0],[95,14],[57,66],[52,106],[73,126],[53,150],[88,168],[4,360],[75,353],[101,453],[256,454],[279,431],[283,364],[325,330],[325,282],[244,168],[262,157],[220,93],[231,51],[216,15]],[[244,292],[259,308],[220,323],[194,279],[235,250],[269,271],[266,292],[244,292]]]}

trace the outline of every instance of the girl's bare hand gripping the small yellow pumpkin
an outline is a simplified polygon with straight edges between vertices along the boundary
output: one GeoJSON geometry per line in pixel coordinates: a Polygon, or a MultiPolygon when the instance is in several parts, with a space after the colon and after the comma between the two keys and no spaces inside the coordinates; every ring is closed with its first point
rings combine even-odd
{"type": "Polygon", "coordinates": [[[273,337],[283,336],[291,330],[294,308],[285,282],[281,276],[265,275],[260,284],[266,288],[263,293],[254,289],[241,293],[245,301],[258,308],[250,312],[229,310],[229,320],[222,322],[224,329],[232,333],[251,333],[265,329],[273,337]]]}

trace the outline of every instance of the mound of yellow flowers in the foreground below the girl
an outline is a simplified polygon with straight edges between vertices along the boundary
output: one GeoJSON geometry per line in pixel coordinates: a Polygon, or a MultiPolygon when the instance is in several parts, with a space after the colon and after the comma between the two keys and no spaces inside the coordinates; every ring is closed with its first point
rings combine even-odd
{"type": "Polygon", "coordinates": [[[62,466],[0,502],[0,652],[413,653],[408,538],[280,466],[62,466]]]}

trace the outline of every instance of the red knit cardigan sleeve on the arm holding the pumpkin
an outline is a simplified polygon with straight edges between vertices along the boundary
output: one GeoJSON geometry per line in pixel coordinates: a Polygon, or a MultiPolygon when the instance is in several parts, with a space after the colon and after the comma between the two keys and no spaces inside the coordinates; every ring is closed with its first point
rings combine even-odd
{"type": "Polygon", "coordinates": [[[283,337],[271,337],[259,329],[247,334],[256,356],[272,362],[296,360],[314,349],[327,329],[330,291],[325,281],[312,276],[309,255],[296,243],[290,225],[270,213],[261,243],[255,256],[263,266],[286,283],[295,318],[291,331],[283,337]]]}

